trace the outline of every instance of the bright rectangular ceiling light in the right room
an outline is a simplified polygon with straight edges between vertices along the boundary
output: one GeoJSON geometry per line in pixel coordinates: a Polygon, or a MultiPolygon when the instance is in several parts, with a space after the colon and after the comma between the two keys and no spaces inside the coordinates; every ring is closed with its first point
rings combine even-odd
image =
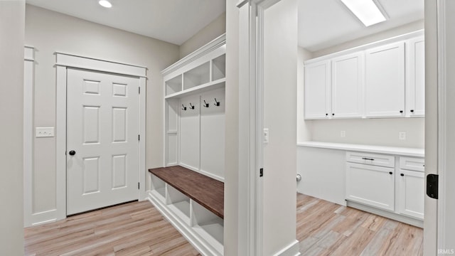
{"type": "Polygon", "coordinates": [[[341,0],[365,26],[385,21],[384,14],[373,0],[341,0]]]}

